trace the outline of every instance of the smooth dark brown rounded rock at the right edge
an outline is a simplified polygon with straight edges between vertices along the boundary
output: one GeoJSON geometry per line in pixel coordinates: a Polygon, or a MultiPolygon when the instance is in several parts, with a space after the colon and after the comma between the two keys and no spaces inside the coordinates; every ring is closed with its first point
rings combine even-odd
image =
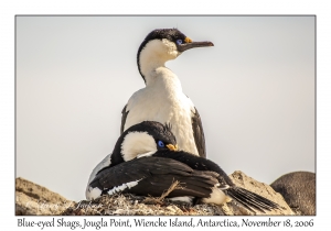
{"type": "Polygon", "coordinates": [[[270,186],[282,195],[285,201],[297,215],[316,215],[314,173],[289,173],[276,179],[270,186]]]}

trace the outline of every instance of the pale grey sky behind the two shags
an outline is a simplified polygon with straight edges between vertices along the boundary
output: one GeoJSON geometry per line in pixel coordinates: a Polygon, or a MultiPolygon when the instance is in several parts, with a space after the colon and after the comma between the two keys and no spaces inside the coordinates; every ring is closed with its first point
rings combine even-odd
{"type": "Polygon", "coordinates": [[[209,158],[267,184],[314,172],[313,16],[18,16],[17,176],[84,199],[143,87],[136,55],[157,28],[215,44],[168,63],[202,117],[209,158]]]}

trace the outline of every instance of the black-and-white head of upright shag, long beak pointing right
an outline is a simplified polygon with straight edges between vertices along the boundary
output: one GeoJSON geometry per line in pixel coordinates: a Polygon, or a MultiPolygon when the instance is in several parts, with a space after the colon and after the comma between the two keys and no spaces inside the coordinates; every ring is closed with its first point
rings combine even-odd
{"type": "Polygon", "coordinates": [[[190,48],[213,45],[209,41],[193,42],[178,29],[157,29],[146,36],[138,50],[138,69],[146,81],[145,75],[149,66],[163,65],[190,48]]]}

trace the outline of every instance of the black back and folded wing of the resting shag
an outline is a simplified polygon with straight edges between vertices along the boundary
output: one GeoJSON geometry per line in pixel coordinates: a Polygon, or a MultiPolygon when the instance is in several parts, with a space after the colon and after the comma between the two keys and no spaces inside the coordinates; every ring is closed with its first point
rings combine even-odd
{"type": "Polygon", "coordinates": [[[169,197],[210,197],[213,186],[218,183],[217,176],[213,172],[193,170],[174,160],[141,157],[105,168],[89,186],[98,187],[104,194],[113,189],[114,193],[160,197],[178,180],[181,188],[175,188],[169,197]]]}

